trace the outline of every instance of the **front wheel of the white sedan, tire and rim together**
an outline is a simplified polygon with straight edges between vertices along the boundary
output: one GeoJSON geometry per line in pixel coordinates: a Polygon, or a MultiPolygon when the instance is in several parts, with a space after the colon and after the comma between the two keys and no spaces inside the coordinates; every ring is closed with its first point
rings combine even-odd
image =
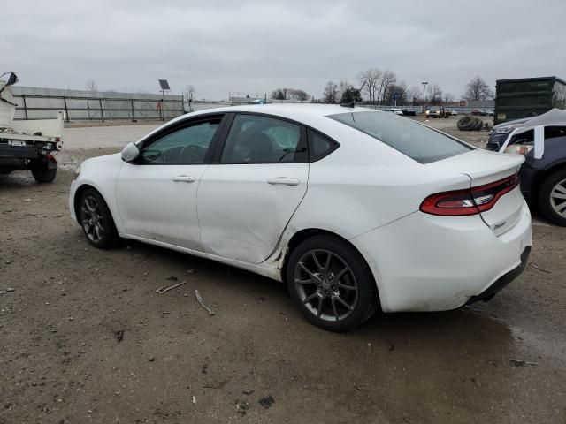
{"type": "Polygon", "coordinates": [[[110,249],[119,239],[110,209],[94,189],[80,195],[79,223],[88,243],[99,249],[110,249]]]}

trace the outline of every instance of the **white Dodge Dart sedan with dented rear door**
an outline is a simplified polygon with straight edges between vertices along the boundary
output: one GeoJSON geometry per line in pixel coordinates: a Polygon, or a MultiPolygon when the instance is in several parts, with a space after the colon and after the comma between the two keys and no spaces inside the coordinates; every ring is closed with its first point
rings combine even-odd
{"type": "Polygon", "coordinates": [[[340,331],[378,309],[491,299],[520,274],[523,161],[388,112],[227,107],[88,159],[69,203],[93,246],[136,239],[249,269],[340,331]]]}

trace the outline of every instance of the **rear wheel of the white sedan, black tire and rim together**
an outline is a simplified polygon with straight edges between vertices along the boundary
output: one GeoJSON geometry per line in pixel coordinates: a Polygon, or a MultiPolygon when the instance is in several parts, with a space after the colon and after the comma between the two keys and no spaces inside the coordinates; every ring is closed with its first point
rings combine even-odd
{"type": "Polygon", "coordinates": [[[302,314],[322,329],[355,329],[379,307],[370,267],[353,246],[336,237],[315,236],[296,246],[286,280],[302,314]]]}

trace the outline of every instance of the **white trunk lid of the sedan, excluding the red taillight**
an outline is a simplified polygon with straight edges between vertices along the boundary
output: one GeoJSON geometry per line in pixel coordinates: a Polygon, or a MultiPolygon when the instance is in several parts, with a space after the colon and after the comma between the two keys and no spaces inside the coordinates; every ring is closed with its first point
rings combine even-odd
{"type": "MultiPolygon", "coordinates": [[[[455,171],[470,178],[470,187],[493,186],[492,183],[515,176],[524,156],[494,153],[475,149],[463,155],[456,155],[432,163],[437,169],[455,171]]],[[[497,185],[496,185],[497,186],[497,185]]],[[[495,187],[495,190],[497,187],[495,187]]],[[[495,202],[493,208],[480,213],[481,218],[496,236],[509,231],[521,216],[524,198],[521,189],[516,186],[504,193],[495,202]]]]}

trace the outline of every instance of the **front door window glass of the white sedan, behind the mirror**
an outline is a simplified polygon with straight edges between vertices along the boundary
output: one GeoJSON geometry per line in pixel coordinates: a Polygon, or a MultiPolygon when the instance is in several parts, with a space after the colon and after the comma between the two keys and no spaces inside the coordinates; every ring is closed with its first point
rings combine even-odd
{"type": "Polygon", "coordinates": [[[210,142],[218,131],[221,118],[185,126],[153,141],[142,148],[139,163],[191,164],[204,163],[210,142]]]}

